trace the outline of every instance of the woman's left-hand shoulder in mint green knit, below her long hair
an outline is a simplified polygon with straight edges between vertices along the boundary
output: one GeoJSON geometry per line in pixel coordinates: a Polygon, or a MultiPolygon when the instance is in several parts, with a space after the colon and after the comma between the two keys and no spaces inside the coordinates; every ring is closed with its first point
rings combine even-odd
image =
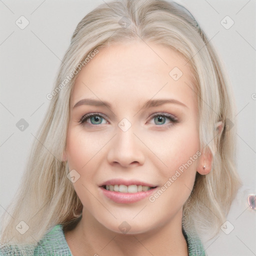
{"type": "Polygon", "coordinates": [[[0,256],[72,256],[62,225],[50,228],[36,245],[0,245],[0,256]]]}

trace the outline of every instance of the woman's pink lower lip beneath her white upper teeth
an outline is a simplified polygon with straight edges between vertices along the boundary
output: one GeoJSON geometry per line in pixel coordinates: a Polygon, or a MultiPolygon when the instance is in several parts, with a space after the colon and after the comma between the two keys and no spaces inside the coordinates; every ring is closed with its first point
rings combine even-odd
{"type": "Polygon", "coordinates": [[[141,191],[136,193],[122,193],[122,192],[116,192],[116,191],[110,191],[106,190],[103,187],[100,187],[103,194],[111,199],[114,202],[117,203],[132,203],[137,202],[139,200],[144,199],[145,197],[148,197],[153,191],[155,191],[157,187],[151,188],[147,191],[141,191]]]}

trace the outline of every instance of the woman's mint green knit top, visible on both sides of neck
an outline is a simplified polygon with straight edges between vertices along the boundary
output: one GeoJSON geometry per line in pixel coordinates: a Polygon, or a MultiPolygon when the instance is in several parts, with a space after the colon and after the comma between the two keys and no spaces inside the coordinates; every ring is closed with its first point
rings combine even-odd
{"type": "MultiPolygon", "coordinates": [[[[206,256],[201,241],[198,238],[189,237],[184,233],[188,246],[189,256],[206,256]]],[[[72,256],[67,245],[62,225],[55,225],[47,232],[34,247],[16,248],[13,246],[1,246],[0,256],[72,256]]]]}

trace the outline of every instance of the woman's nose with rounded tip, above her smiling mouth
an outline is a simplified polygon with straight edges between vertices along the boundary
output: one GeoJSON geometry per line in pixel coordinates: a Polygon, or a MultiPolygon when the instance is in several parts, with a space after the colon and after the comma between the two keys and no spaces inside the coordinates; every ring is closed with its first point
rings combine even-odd
{"type": "Polygon", "coordinates": [[[144,163],[143,147],[139,139],[133,134],[132,126],[126,131],[117,127],[117,134],[110,145],[107,160],[111,165],[123,167],[139,166],[144,163]]]}

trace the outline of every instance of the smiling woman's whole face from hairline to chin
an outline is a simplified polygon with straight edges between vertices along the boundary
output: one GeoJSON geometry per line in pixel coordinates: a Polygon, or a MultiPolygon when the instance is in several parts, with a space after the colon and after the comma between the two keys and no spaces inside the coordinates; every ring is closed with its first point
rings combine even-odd
{"type": "Polygon", "coordinates": [[[189,63],[153,43],[101,48],[81,69],[65,157],[87,219],[119,233],[180,223],[200,164],[192,86],[189,63]]]}

